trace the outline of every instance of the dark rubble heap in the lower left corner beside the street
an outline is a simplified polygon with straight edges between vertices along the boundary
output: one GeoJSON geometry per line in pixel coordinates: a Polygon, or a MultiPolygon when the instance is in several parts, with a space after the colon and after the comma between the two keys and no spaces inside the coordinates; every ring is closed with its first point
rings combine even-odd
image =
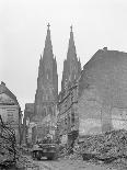
{"type": "Polygon", "coordinates": [[[15,133],[9,124],[4,124],[0,116],[0,169],[31,168],[39,170],[27,157],[22,155],[20,146],[16,145],[15,133]]]}

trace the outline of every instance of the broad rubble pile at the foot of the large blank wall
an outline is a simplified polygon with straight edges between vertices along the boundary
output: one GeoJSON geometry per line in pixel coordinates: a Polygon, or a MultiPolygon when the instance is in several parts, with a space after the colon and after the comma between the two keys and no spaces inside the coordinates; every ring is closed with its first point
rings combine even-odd
{"type": "Polygon", "coordinates": [[[79,144],[83,159],[99,159],[112,162],[118,158],[127,159],[127,131],[112,131],[105,134],[85,136],[79,144]]]}

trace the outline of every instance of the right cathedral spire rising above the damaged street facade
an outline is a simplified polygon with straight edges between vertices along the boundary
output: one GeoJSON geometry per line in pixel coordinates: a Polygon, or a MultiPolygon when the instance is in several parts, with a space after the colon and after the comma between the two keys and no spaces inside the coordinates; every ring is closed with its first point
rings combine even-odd
{"type": "Polygon", "coordinates": [[[72,26],[70,26],[70,38],[69,38],[67,59],[64,61],[61,90],[64,90],[65,87],[68,86],[69,83],[72,83],[74,80],[77,80],[80,72],[81,72],[81,63],[80,59],[78,60],[77,58],[72,26]]]}

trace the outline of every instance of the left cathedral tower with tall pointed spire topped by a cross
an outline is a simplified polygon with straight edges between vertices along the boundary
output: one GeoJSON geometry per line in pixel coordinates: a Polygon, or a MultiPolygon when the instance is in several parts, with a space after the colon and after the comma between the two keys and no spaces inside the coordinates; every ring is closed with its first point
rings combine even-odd
{"type": "Polygon", "coordinates": [[[57,61],[53,54],[49,24],[43,57],[41,55],[37,90],[35,94],[35,114],[43,117],[55,114],[55,104],[58,97],[57,61]]]}

